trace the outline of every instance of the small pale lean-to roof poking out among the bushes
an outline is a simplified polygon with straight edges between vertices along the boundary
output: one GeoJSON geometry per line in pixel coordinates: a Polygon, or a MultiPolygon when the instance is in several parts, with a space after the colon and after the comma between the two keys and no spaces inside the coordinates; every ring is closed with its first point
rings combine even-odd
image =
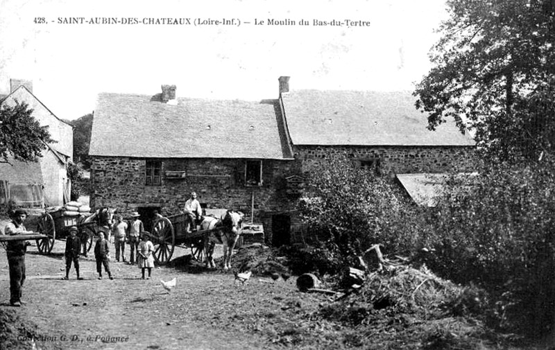
{"type": "Polygon", "coordinates": [[[397,174],[412,200],[422,206],[436,207],[443,193],[447,174],[397,174]]]}

